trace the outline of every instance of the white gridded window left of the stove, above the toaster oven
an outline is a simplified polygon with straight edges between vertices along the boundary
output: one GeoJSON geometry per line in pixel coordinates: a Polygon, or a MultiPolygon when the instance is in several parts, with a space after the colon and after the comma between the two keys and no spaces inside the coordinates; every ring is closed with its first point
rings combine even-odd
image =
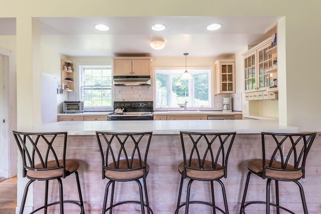
{"type": "Polygon", "coordinates": [[[112,67],[80,66],[80,99],[85,109],[112,106],[112,67]]]}

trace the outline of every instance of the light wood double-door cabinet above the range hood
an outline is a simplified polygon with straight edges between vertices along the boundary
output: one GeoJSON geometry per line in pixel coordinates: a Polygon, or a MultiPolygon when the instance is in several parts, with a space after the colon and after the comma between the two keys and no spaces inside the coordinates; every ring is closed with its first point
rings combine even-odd
{"type": "Polygon", "coordinates": [[[151,57],[114,57],[114,76],[146,76],[150,75],[151,57]]]}

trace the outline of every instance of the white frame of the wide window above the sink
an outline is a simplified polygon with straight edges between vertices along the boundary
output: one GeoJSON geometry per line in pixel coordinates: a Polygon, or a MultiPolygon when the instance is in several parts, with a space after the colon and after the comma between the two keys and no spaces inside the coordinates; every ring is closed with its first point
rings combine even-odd
{"type": "MultiPolygon", "coordinates": [[[[187,67],[187,70],[209,70],[209,105],[208,106],[189,106],[189,110],[199,110],[200,108],[202,108],[203,110],[211,110],[214,108],[214,99],[213,99],[213,95],[214,95],[214,67],[213,66],[194,66],[194,67],[187,67]]],[[[171,107],[171,106],[163,106],[163,107],[156,107],[156,72],[159,70],[177,70],[178,73],[183,74],[184,71],[186,70],[185,67],[152,67],[152,74],[153,74],[153,86],[152,90],[153,90],[153,100],[154,100],[154,110],[181,110],[179,106],[177,107],[171,107]]],[[[175,73],[176,74],[176,73],[175,73]]],[[[175,75],[174,74],[174,75],[175,75]]],[[[191,100],[194,100],[194,79],[193,80],[188,80],[190,81],[190,84],[192,84],[191,87],[189,87],[189,93],[191,94],[191,96],[189,96],[189,100],[188,102],[190,103],[191,100]]],[[[169,78],[168,81],[169,84],[169,89],[168,90],[172,90],[172,79],[169,78]]],[[[171,92],[172,93],[172,92],[171,92]]],[[[194,102],[194,101],[193,101],[194,102]]]]}

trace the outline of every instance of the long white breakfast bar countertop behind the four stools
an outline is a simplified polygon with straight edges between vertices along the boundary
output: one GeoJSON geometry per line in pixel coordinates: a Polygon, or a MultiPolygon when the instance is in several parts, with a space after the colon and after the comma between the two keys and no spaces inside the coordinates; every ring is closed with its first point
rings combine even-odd
{"type": "Polygon", "coordinates": [[[67,131],[68,135],[95,135],[95,131],[179,134],[180,131],[227,132],[299,132],[298,127],[278,124],[275,120],[131,120],[131,121],[61,121],[44,124],[26,132],[67,131]]]}

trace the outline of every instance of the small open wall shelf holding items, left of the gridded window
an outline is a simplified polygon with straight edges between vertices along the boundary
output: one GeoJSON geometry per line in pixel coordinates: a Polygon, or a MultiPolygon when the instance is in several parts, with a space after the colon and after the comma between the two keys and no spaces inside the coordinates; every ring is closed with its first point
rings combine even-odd
{"type": "Polygon", "coordinates": [[[74,91],[74,64],[61,60],[61,84],[63,91],[74,91]]]}

